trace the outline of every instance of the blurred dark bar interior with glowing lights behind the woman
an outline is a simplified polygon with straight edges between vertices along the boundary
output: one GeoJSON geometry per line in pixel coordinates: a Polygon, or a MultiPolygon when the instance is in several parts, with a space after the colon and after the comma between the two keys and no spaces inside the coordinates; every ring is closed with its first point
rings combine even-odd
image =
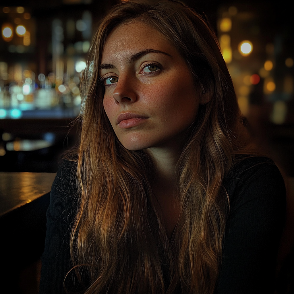
{"type": "MultiPolygon", "coordinates": [[[[119,2],[1,0],[0,171],[57,171],[62,154],[77,142],[71,122],[80,111],[91,38],[119,2]]],[[[207,15],[251,140],[284,176],[288,229],[277,293],[290,293],[283,268],[286,256],[293,260],[294,238],[293,11],[285,1],[182,2],[207,15]]]]}

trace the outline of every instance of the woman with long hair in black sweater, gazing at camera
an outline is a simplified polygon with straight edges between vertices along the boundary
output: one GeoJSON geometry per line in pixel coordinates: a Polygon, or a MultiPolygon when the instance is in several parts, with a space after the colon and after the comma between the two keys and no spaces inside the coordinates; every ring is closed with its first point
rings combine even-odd
{"type": "Polygon", "coordinates": [[[51,190],[40,293],[270,293],[285,188],[248,156],[205,19],[178,2],[106,16],[81,141],[51,190]]]}

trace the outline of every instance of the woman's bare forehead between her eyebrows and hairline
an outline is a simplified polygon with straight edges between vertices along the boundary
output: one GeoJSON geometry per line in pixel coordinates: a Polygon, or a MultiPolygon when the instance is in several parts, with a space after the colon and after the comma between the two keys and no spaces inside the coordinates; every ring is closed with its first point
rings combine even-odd
{"type": "Polygon", "coordinates": [[[174,46],[156,29],[141,21],[120,24],[107,37],[101,63],[123,60],[146,48],[174,53],[174,46]]]}

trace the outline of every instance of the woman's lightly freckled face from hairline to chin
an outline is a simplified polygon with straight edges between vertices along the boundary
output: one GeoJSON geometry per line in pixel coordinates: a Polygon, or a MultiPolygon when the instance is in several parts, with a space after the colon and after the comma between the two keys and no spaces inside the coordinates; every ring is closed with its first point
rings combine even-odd
{"type": "Polygon", "coordinates": [[[142,22],[122,24],[111,32],[100,76],[105,112],[129,150],[182,140],[196,118],[199,89],[185,60],[162,34],[142,22]]]}

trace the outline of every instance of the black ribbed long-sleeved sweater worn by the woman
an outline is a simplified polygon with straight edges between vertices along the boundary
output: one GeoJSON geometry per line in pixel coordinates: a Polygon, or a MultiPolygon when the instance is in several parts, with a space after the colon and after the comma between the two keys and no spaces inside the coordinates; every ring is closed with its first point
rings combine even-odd
{"type": "MultiPolygon", "coordinates": [[[[52,185],[40,294],[65,293],[64,278],[72,267],[69,236],[78,197],[75,170],[76,163],[65,160],[52,185]]],[[[273,293],[285,218],[283,178],[268,158],[250,157],[236,163],[223,184],[230,198],[230,216],[214,293],[273,293]]]]}

